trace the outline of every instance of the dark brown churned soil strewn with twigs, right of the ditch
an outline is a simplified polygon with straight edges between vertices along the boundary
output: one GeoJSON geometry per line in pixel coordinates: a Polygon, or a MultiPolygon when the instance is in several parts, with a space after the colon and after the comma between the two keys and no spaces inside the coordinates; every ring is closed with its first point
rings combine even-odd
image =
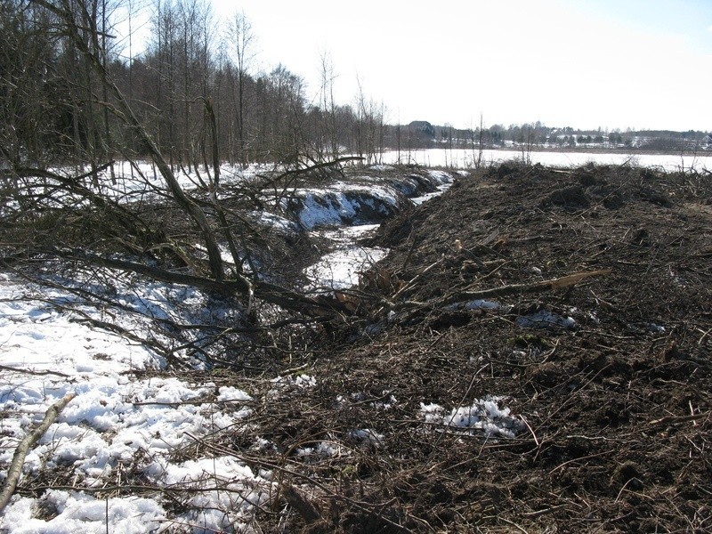
{"type": "Polygon", "coordinates": [[[282,465],[312,506],[287,498],[287,519],[265,511],[262,528],[712,530],[710,198],[709,175],[506,165],[384,224],[370,328],[325,333],[306,357],[317,385],[259,422],[273,452],[255,465],[282,465]],[[462,305],[509,286],[486,299],[496,309],[462,305]],[[535,312],[575,322],[522,327],[535,312]],[[514,438],[420,410],[488,396],[519,419],[514,438]],[[342,449],[295,453],[317,443],[342,449]]]}

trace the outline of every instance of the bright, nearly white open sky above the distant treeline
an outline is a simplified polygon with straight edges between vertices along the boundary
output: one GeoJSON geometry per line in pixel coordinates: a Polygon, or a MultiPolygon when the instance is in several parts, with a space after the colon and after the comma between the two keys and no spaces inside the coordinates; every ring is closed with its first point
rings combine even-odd
{"type": "Polygon", "coordinates": [[[389,122],[542,121],[712,130],[712,0],[214,0],[244,12],[256,69],[278,62],[336,97],[358,83],[389,122]]]}

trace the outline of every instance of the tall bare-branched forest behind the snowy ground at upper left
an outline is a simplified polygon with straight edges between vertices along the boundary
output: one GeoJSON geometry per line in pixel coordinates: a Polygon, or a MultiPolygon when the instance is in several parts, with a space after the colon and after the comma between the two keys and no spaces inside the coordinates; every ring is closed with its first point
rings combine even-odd
{"type": "Polygon", "coordinates": [[[52,4],[76,14],[80,39],[172,165],[206,163],[213,139],[232,164],[384,148],[384,107],[363,94],[357,106],[337,104],[328,57],[316,100],[283,65],[257,71],[254,34],[241,13],[217,23],[204,0],[157,2],[145,51],[132,57],[126,3],[10,0],[0,7],[0,156],[13,167],[100,166],[148,154],[106,105],[106,84],[47,9],[52,4]]]}

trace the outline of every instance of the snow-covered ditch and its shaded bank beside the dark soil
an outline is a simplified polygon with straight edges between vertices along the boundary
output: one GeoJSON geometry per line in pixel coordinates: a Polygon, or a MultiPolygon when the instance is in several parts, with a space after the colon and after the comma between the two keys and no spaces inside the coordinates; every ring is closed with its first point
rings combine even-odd
{"type": "Polygon", "coordinates": [[[263,223],[281,221],[280,227],[294,235],[309,236],[315,254],[302,266],[302,274],[303,288],[312,294],[357,286],[360,274],[388,253],[386,247],[360,245],[360,240],[379,224],[440,195],[454,181],[453,174],[434,169],[371,166],[366,171],[347,171],[333,181],[296,188],[280,203],[284,218],[260,214],[263,223]]]}

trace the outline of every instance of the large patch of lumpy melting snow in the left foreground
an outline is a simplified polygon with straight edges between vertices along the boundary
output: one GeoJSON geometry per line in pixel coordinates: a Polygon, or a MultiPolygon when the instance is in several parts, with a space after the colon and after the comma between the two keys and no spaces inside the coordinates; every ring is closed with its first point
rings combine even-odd
{"type": "MultiPolygon", "coordinates": [[[[167,513],[155,500],[116,497],[107,501],[81,490],[114,485],[123,465],[134,462],[137,455],[153,458],[143,465],[144,474],[166,486],[209,489],[210,483],[218,481],[214,473],[222,477],[226,490],[219,494],[208,490],[191,494],[194,497],[188,508],[205,510],[193,510],[171,521],[220,530],[239,522],[250,503],[264,498],[268,482],[234,458],[210,457],[204,450],[206,456],[192,463],[173,465],[165,456],[194,443],[190,436],[199,438],[239,425],[251,414],[245,405],[251,396],[235,387],[218,389],[176,377],[136,379],[125,375],[125,371],[160,368],[164,362],[146,346],[93,328],[86,320],[118,322],[140,331],[147,327],[147,318],[174,316],[176,310],[166,295],[178,291],[189,303],[202,303],[203,297],[186,288],[159,284],[128,287],[120,277],[113,280],[119,300],[134,314],[112,317],[78,302],[76,295],[0,277],[0,339],[4,342],[0,352],[0,411],[4,414],[0,420],[0,463],[4,469],[18,442],[43,419],[46,409],[69,392],[77,395],[30,450],[23,465],[23,473],[69,467],[77,490],[48,490],[39,499],[15,495],[0,516],[0,531],[157,530],[167,513]],[[215,398],[221,404],[210,401],[215,398]],[[210,473],[213,475],[208,476],[210,473]],[[40,502],[56,510],[56,515],[38,519],[36,506],[40,502]]],[[[5,475],[0,472],[0,479],[5,475]]]]}

